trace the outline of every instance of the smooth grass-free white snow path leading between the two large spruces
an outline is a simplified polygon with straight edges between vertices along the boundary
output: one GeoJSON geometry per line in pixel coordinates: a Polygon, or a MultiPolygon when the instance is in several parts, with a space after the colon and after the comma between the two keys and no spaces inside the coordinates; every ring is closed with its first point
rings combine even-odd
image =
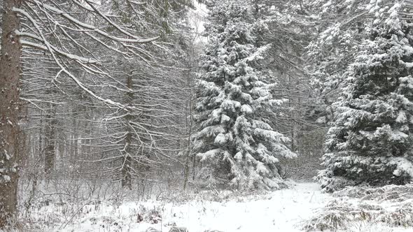
{"type": "Polygon", "coordinates": [[[208,209],[206,215],[197,212],[196,203],[174,210],[183,215],[177,221],[187,225],[189,231],[301,231],[303,220],[309,219],[328,200],[330,196],[321,194],[318,184],[302,183],[292,189],[274,191],[266,199],[204,203],[208,209]]]}

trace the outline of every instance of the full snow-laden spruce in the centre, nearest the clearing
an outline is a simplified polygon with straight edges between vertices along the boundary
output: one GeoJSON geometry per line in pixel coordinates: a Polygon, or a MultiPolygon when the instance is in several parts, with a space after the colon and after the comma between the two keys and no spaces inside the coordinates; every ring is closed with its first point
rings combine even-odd
{"type": "Polygon", "coordinates": [[[256,33],[265,25],[256,20],[250,1],[210,4],[210,43],[201,59],[197,83],[195,149],[202,161],[201,177],[209,184],[230,183],[239,189],[278,188],[278,159],[294,157],[264,117],[283,101],[274,99],[258,59],[267,46],[256,33]]]}

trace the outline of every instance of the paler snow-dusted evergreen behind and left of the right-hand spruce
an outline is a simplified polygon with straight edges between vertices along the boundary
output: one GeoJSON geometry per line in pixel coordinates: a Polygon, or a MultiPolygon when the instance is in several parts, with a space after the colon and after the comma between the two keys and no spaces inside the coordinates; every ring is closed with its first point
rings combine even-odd
{"type": "Polygon", "coordinates": [[[311,89],[316,96],[317,122],[330,124],[332,103],[346,87],[346,75],[356,58],[360,44],[367,35],[371,21],[366,10],[370,0],[339,1],[309,0],[310,20],[316,24],[307,45],[305,69],[311,77],[311,89]]]}

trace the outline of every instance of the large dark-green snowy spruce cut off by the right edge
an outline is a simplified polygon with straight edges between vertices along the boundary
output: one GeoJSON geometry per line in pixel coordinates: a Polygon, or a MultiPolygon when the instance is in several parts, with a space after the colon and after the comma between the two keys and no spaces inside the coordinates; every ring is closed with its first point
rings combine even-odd
{"type": "Polygon", "coordinates": [[[412,180],[413,48],[403,6],[372,4],[377,18],[367,28],[350,66],[347,87],[335,103],[328,131],[322,187],[406,184],[412,180]]]}

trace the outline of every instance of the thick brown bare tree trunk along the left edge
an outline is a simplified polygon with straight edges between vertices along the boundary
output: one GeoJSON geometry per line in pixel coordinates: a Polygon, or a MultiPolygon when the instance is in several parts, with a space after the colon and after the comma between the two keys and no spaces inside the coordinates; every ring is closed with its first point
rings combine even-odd
{"type": "Polygon", "coordinates": [[[18,112],[21,45],[15,31],[20,20],[13,8],[22,0],[3,0],[0,58],[0,231],[13,222],[17,211],[18,112]]]}

